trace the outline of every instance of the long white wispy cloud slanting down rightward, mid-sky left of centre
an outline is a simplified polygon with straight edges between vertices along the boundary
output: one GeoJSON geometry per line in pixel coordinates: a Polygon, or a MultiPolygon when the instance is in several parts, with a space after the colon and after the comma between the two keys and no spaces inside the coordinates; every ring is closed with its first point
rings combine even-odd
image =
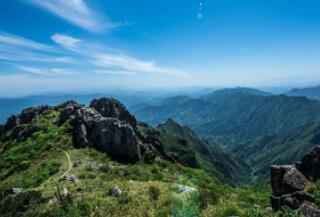
{"type": "Polygon", "coordinates": [[[85,56],[91,60],[91,64],[107,68],[108,70],[186,75],[185,72],[180,70],[159,66],[154,61],[145,61],[122,53],[102,52],[94,49],[95,47],[102,48],[102,44],[97,45],[63,34],[55,34],[51,38],[61,47],[85,56]],[[91,47],[93,47],[93,49],[91,47]]]}

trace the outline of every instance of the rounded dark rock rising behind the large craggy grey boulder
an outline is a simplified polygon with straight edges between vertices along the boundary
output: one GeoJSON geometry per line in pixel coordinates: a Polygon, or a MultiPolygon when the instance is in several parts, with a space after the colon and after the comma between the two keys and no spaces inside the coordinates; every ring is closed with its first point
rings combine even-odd
{"type": "Polygon", "coordinates": [[[94,108],[103,117],[117,118],[129,123],[136,130],[136,118],[131,115],[127,108],[118,100],[113,98],[94,99],[90,107],[94,108]]]}

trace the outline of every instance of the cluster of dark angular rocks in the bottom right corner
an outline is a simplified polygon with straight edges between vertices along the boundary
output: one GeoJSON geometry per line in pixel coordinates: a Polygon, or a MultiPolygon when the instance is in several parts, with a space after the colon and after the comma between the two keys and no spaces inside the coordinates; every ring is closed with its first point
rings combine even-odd
{"type": "Polygon", "coordinates": [[[275,211],[283,206],[301,209],[306,217],[320,217],[320,211],[308,203],[314,203],[315,197],[305,189],[307,185],[319,179],[320,146],[308,152],[295,165],[271,166],[271,204],[275,211]]]}

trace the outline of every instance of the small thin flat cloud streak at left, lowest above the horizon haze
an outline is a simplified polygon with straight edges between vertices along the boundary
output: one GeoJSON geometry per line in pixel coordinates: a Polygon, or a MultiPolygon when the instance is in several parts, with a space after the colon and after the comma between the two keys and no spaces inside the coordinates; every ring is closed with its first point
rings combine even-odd
{"type": "Polygon", "coordinates": [[[29,72],[37,75],[44,76],[57,76],[57,75],[75,75],[76,73],[72,72],[69,69],[65,68],[36,68],[31,66],[18,66],[18,69],[29,72]]]}

